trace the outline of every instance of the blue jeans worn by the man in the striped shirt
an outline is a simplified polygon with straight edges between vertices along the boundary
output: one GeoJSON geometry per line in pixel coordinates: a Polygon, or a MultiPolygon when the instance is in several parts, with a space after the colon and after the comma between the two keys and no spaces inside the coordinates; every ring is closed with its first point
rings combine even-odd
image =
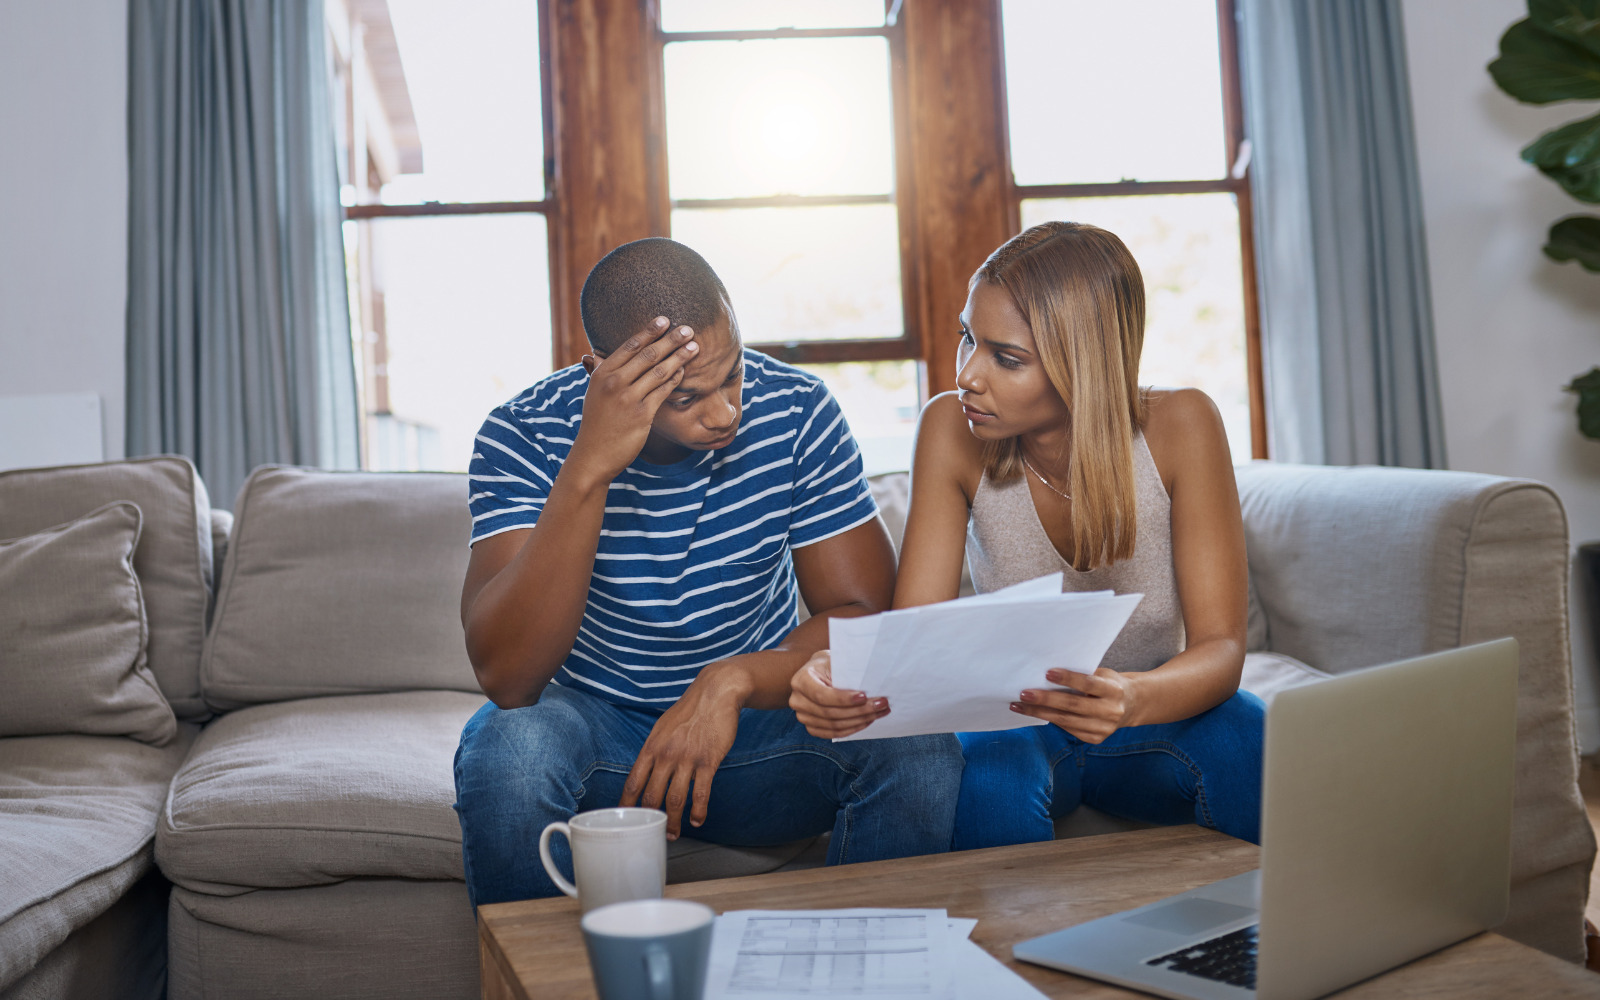
{"type": "MultiPolygon", "coordinates": [[[[539,832],[614,806],[659,715],[549,686],[525,709],[478,709],[456,749],[456,813],[474,906],[557,896],[539,832]]],[[[683,834],[771,846],[832,830],[829,864],[933,854],[950,846],[962,747],[954,736],[829,742],[789,709],[739,714],[710,786],[706,824],[683,834]]],[[[565,837],[550,854],[568,878],[565,837]]]]}

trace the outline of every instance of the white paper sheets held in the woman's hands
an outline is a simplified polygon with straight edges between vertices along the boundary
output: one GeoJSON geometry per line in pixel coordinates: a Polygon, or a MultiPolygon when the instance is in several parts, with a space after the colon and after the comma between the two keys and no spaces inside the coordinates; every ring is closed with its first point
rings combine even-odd
{"type": "Polygon", "coordinates": [[[829,619],[834,686],[888,698],[890,714],[842,739],[984,733],[1045,725],[1018,715],[1024,688],[1045,670],[1093,674],[1141,594],[1062,594],[1061,573],[1014,587],[829,619]]]}

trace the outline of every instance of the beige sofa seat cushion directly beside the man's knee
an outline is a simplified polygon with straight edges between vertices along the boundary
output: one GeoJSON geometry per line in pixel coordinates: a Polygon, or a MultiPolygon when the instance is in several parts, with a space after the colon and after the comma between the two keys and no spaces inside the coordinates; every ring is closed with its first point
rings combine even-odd
{"type": "Polygon", "coordinates": [[[451,762],[482,694],[408,691],[218,718],[173,778],[155,856],[200,893],[462,878],[451,762]]]}

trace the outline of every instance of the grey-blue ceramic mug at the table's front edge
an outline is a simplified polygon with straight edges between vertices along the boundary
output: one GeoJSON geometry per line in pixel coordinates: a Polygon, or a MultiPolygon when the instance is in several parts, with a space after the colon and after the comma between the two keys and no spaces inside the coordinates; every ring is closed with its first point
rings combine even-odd
{"type": "Polygon", "coordinates": [[[584,914],[600,1000],[701,1000],[715,917],[688,899],[634,899],[584,914]]]}

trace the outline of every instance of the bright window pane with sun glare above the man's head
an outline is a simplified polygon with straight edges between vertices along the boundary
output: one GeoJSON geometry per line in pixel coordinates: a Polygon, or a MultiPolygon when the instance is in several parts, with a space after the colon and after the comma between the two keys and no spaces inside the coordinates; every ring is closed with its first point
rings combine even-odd
{"type": "Polygon", "coordinates": [[[894,189],[886,40],[675,42],[664,69],[674,198],[894,189]]]}

